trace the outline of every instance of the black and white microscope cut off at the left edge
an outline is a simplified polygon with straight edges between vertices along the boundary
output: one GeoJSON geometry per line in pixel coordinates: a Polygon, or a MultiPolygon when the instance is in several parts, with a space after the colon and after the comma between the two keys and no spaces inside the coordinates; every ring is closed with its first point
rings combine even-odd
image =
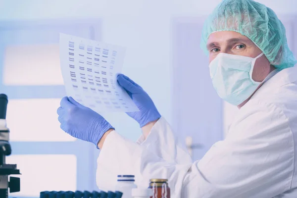
{"type": "Polygon", "coordinates": [[[20,178],[9,177],[9,175],[20,175],[20,170],[16,168],[16,164],[5,163],[5,157],[11,154],[8,142],[9,129],[6,127],[7,103],[7,96],[0,94],[0,198],[8,198],[8,188],[10,193],[20,191],[20,178]]]}

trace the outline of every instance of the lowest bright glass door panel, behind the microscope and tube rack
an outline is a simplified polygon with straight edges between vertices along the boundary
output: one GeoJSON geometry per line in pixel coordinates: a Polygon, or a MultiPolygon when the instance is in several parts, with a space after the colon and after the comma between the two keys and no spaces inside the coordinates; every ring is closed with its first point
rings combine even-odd
{"type": "Polygon", "coordinates": [[[7,164],[17,164],[21,191],[11,197],[39,197],[42,191],[75,191],[77,160],[75,155],[11,155],[7,164]]]}

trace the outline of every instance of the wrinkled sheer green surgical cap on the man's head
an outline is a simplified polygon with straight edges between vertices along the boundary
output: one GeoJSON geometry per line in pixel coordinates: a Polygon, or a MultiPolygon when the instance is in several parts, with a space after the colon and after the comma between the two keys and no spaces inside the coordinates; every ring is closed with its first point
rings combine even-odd
{"type": "Polygon", "coordinates": [[[253,0],[223,0],[206,19],[201,48],[206,54],[210,34],[235,31],[249,38],[276,68],[293,67],[297,60],[289,49],[286,30],[275,12],[253,0]]]}

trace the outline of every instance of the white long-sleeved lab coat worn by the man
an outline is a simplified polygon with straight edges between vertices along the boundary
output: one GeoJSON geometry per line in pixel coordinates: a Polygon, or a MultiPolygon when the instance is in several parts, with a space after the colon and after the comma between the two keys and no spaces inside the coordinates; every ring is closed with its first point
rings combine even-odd
{"type": "Polygon", "coordinates": [[[194,163],[163,117],[145,141],[111,132],[98,157],[97,184],[112,190],[117,174],[134,174],[144,188],[150,178],[167,178],[171,198],[297,198],[296,149],[297,66],[264,83],[225,140],[194,163]]]}

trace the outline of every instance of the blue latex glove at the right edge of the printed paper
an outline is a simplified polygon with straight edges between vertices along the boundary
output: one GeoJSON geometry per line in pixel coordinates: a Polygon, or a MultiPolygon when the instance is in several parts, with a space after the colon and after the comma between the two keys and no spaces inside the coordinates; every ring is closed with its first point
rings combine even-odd
{"type": "Polygon", "coordinates": [[[155,121],[161,117],[153,101],[143,90],[143,88],[123,74],[119,74],[117,76],[117,82],[122,88],[126,90],[130,98],[139,108],[140,111],[127,112],[127,114],[136,120],[140,127],[143,127],[149,122],[155,121]]]}

